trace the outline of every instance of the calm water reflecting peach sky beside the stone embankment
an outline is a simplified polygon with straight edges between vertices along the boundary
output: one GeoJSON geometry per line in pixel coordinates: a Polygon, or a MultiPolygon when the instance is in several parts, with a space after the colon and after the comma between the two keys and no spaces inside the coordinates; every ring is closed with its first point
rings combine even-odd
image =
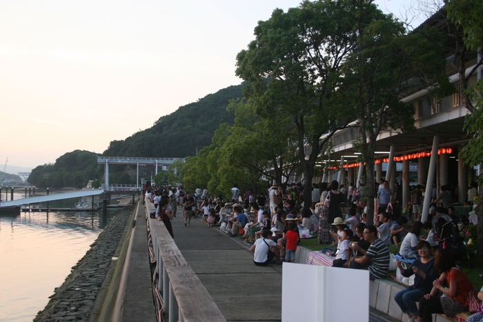
{"type": "MultiPolygon", "coordinates": [[[[10,198],[9,198],[10,199],[10,198]]],[[[51,207],[73,207],[66,200],[51,207]]],[[[32,321],[116,212],[0,216],[0,321],[32,321]]]]}

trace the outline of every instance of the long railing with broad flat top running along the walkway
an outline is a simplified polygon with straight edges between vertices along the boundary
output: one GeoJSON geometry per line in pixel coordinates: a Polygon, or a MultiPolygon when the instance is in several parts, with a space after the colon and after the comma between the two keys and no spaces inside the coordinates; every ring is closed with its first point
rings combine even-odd
{"type": "MultiPolygon", "coordinates": [[[[146,201],[146,212],[155,210],[146,201]]],[[[199,281],[171,238],[162,221],[148,216],[152,252],[159,276],[159,292],[163,297],[168,321],[224,321],[223,314],[206,288],[199,281]]]]}

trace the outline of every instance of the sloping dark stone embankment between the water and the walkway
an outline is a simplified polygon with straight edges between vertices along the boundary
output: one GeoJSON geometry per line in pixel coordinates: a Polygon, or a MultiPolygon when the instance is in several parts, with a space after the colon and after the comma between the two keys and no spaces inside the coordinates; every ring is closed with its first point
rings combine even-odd
{"type": "Polygon", "coordinates": [[[106,276],[109,279],[112,274],[113,257],[119,253],[119,241],[130,228],[128,222],[134,209],[132,205],[127,206],[110,221],[86,255],[72,267],[66,281],[55,289],[55,294],[50,296],[46,308],[39,311],[34,322],[88,321],[95,305],[99,305],[97,296],[106,292],[103,283],[106,276]]]}

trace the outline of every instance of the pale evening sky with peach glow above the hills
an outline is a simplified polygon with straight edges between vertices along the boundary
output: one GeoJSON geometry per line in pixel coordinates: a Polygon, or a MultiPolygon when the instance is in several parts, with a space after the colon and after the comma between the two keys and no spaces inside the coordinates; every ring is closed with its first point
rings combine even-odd
{"type": "MultiPolygon", "coordinates": [[[[6,158],[35,168],[73,150],[101,153],[241,83],[236,56],[257,21],[299,3],[0,0],[0,171],[6,158]]],[[[396,17],[410,5],[375,3],[396,17]]]]}

